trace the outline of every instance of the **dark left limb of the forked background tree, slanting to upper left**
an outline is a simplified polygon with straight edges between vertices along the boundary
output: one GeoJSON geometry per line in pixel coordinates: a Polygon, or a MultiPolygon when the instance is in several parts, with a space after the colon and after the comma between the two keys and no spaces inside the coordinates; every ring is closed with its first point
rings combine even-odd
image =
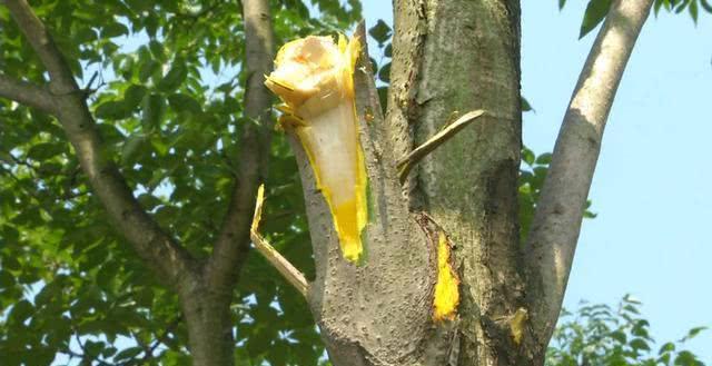
{"type": "Polygon", "coordinates": [[[85,93],[79,89],[61,51],[26,0],[2,0],[10,16],[50,75],[56,116],[116,228],[166,284],[180,286],[184,276],[195,274],[191,256],[141,208],[126,180],[106,154],[85,93]]]}

